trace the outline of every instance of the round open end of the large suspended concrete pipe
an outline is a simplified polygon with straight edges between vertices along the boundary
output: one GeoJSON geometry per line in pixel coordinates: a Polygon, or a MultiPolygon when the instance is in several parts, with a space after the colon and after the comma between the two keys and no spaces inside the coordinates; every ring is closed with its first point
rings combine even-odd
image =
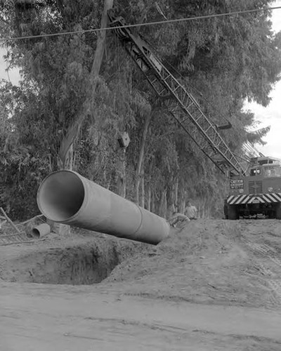
{"type": "Polygon", "coordinates": [[[79,176],[71,171],[59,171],[41,184],[37,203],[46,218],[63,222],[79,211],[84,196],[84,185],[79,176]]]}

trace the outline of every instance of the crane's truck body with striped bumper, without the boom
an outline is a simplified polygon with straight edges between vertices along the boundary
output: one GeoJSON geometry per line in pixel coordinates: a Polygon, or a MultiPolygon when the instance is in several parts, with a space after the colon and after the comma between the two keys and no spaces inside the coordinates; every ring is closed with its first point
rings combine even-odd
{"type": "Polygon", "coordinates": [[[273,157],[250,159],[247,176],[232,176],[224,205],[227,219],[281,219],[281,161],[273,157]]]}

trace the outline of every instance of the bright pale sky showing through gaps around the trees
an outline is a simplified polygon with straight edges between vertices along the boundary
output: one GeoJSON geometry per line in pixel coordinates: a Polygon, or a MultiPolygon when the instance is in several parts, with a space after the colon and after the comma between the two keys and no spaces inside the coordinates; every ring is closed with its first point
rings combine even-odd
{"type": "MultiPolygon", "coordinates": [[[[281,0],[276,0],[270,7],[276,6],[281,6],[281,0]]],[[[281,31],[281,9],[273,11],[271,21],[273,22],[273,30],[275,32],[281,31]]],[[[20,79],[19,71],[13,69],[6,72],[7,65],[3,58],[4,53],[4,48],[0,48],[0,79],[11,80],[13,84],[17,84],[20,79]]],[[[272,100],[267,107],[252,102],[245,103],[244,110],[254,112],[256,121],[259,121],[257,128],[270,126],[270,132],[263,138],[266,145],[256,145],[256,149],[266,156],[281,159],[281,81],[273,88],[270,98],[272,100]]]]}

